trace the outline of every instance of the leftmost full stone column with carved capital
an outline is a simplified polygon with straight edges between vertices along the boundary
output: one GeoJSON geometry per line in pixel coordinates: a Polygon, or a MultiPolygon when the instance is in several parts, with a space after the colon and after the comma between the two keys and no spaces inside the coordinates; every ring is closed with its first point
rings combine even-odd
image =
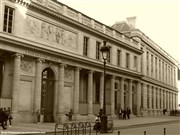
{"type": "Polygon", "coordinates": [[[22,54],[15,54],[14,56],[14,68],[12,77],[12,114],[17,114],[19,106],[19,87],[20,87],[20,64],[22,54]]]}

